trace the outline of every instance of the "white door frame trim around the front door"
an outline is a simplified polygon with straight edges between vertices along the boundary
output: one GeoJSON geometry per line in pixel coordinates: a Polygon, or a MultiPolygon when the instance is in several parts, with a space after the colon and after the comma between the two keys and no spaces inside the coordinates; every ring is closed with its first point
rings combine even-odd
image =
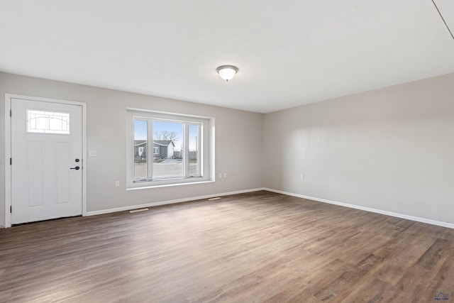
{"type": "Polygon", "coordinates": [[[87,216],[87,104],[78,101],[33,97],[21,94],[5,94],[5,228],[11,227],[11,99],[26,99],[49,103],[82,106],[82,216],[87,216]]]}

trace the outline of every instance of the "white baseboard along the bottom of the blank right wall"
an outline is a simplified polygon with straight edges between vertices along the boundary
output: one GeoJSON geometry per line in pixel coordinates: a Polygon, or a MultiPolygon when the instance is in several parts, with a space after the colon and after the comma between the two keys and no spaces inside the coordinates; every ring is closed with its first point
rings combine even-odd
{"type": "Polygon", "coordinates": [[[432,224],[432,225],[436,225],[436,226],[454,228],[454,224],[452,224],[452,223],[443,222],[443,221],[436,221],[436,220],[426,219],[426,218],[421,218],[419,216],[409,216],[409,215],[406,215],[406,214],[399,214],[399,213],[395,213],[395,212],[392,212],[392,211],[384,211],[382,209],[372,209],[370,207],[365,207],[365,206],[360,206],[360,205],[355,205],[355,204],[337,202],[337,201],[321,199],[321,198],[317,198],[317,197],[309,197],[309,196],[305,196],[304,194],[294,194],[292,192],[282,192],[281,190],[277,190],[277,189],[263,188],[263,190],[267,190],[269,192],[276,192],[278,194],[286,194],[287,196],[292,196],[292,197],[298,197],[298,198],[314,200],[314,201],[317,201],[317,202],[323,202],[323,203],[328,203],[328,204],[335,204],[335,205],[338,205],[338,206],[349,207],[350,209],[360,209],[362,211],[370,211],[370,212],[374,212],[374,213],[377,213],[377,214],[385,214],[387,216],[395,216],[395,217],[401,218],[401,219],[407,219],[407,220],[411,220],[411,221],[417,221],[417,222],[422,222],[422,223],[426,223],[426,224],[432,224]]]}

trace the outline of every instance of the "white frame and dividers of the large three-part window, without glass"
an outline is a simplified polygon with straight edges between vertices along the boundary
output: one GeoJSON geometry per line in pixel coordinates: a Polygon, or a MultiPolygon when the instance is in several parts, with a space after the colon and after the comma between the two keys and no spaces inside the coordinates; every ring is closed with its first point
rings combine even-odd
{"type": "MultiPolygon", "coordinates": [[[[126,142],[126,190],[143,189],[151,187],[175,186],[182,184],[194,184],[204,182],[214,182],[214,118],[204,116],[192,116],[184,114],[174,114],[161,111],[148,111],[143,109],[126,109],[127,120],[127,142],[126,142]],[[144,119],[148,121],[148,138],[150,146],[153,146],[153,120],[175,121],[189,124],[198,124],[201,138],[199,140],[199,161],[200,176],[192,177],[187,175],[189,172],[189,161],[183,162],[184,177],[173,177],[157,180],[134,180],[134,119],[144,119]]],[[[184,130],[184,142],[188,141],[188,131],[184,130]]],[[[184,148],[188,155],[184,159],[189,159],[189,148],[184,148]]],[[[153,154],[155,148],[147,148],[148,175],[153,175],[153,154]]]]}

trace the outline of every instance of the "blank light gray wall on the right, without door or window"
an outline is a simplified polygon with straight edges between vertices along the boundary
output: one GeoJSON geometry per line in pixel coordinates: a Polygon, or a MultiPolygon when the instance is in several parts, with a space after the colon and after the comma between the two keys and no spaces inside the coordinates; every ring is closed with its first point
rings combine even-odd
{"type": "Polygon", "coordinates": [[[454,223],[454,74],[266,114],[263,150],[270,189],[454,223]]]}

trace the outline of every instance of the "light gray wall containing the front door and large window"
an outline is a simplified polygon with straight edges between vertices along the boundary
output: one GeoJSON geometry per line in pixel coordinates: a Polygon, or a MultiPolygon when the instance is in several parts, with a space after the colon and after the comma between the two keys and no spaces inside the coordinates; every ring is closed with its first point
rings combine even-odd
{"type": "Polygon", "coordinates": [[[4,94],[87,103],[87,211],[262,187],[262,114],[0,73],[0,225],[4,225],[4,94]],[[206,184],[126,191],[126,107],[216,119],[216,176],[206,184]],[[238,148],[241,146],[241,148],[238,148]],[[120,181],[116,188],[114,182],[120,181]]]}

